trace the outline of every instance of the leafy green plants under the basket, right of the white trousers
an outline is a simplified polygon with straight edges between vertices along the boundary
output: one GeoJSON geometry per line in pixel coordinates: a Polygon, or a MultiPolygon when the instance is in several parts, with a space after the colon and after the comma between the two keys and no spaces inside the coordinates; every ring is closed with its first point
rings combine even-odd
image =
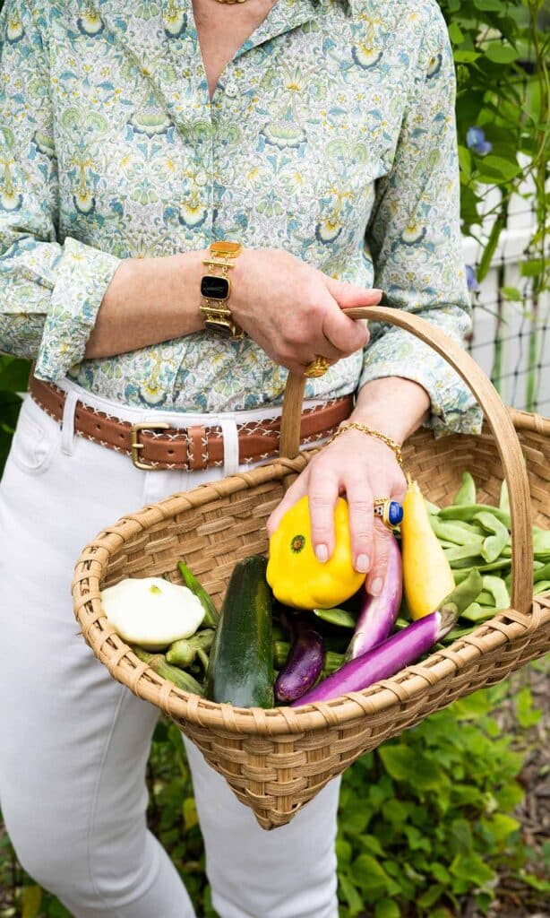
{"type": "Polygon", "coordinates": [[[338,835],[341,918],[386,901],[403,916],[427,918],[436,906],[457,914],[471,892],[482,908],[498,870],[523,866],[511,815],[523,798],[522,756],[490,716],[505,690],[457,701],[349,769],[338,835]]]}

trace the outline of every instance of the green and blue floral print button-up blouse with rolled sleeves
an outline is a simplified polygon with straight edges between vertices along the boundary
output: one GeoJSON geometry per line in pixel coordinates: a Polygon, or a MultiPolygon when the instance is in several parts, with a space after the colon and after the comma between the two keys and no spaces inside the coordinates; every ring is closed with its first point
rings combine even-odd
{"type": "MultiPolygon", "coordinates": [[[[463,340],[455,73],[435,0],[278,0],[212,102],[191,0],[6,0],[0,38],[0,350],[41,379],[170,410],[280,402],[287,371],[250,339],[83,358],[121,259],[217,239],[378,286],[463,340]]],[[[479,429],[435,352],[370,333],[306,397],[400,375],[427,390],[436,429],[479,429]]]]}

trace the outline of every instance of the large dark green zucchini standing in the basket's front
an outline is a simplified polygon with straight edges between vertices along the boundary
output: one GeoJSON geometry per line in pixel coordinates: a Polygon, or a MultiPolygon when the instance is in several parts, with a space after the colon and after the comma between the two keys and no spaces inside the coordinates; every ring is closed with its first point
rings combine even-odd
{"type": "Polygon", "coordinates": [[[206,698],[238,708],[274,703],[271,591],[267,559],[237,562],[227,586],[206,672],[206,698]]]}

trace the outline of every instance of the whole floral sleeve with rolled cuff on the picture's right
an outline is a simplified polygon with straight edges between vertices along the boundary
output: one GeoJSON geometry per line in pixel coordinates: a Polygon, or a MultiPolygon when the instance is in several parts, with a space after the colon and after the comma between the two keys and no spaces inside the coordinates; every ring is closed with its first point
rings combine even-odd
{"type": "MultiPolygon", "coordinates": [[[[431,322],[464,343],[471,306],[460,234],[456,81],[446,23],[434,3],[391,171],[379,180],[366,244],[374,286],[387,305],[431,322]]],[[[383,376],[423,386],[427,424],[437,432],[477,432],[479,406],[460,376],[409,332],[373,325],[359,387],[383,376]]]]}

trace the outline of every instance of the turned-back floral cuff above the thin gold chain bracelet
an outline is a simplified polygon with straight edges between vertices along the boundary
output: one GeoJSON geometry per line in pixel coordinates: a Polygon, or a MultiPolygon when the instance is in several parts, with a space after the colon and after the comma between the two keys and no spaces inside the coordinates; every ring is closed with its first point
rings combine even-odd
{"type": "Polygon", "coordinates": [[[365,353],[359,388],[373,379],[402,376],[423,386],[431,401],[424,423],[436,436],[445,433],[480,433],[483,415],[478,402],[461,377],[443,358],[402,330],[391,330],[390,341],[375,341],[365,353]],[[396,353],[400,358],[396,360],[396,353]]]}

